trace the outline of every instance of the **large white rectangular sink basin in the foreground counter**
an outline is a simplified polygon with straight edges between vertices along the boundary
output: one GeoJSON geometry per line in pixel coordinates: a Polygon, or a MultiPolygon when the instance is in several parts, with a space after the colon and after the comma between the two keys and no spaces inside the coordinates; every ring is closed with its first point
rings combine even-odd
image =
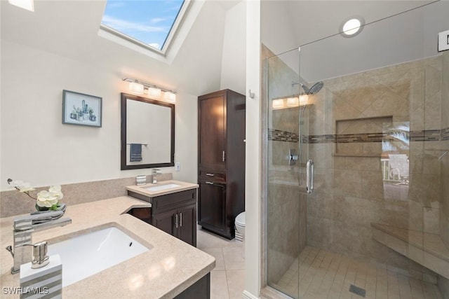
{"type": "Polygon", "coordinates": [[[61,257],[63,287],[147,251],[147,247],[118,228],[105,228],[48,245],[48,256],[61,257]]]}

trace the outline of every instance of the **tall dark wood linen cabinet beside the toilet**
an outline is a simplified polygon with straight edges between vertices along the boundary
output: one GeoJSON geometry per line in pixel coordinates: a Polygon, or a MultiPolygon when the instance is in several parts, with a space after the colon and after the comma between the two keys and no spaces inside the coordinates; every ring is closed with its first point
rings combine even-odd
{"type": "Polygon", "coordinates": [[[198,224],[227,239],[245,210],[245,112],[232,90],[198,97],[198,224]]]}

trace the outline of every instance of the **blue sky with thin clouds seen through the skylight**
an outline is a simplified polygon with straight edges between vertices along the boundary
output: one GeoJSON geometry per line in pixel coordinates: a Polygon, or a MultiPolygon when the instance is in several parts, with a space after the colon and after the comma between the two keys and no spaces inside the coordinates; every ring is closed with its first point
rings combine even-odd
{"type": "Polygon", "coordinates": [[[184,0],[107,0],[102,24],[161,50],[184,0]]]}

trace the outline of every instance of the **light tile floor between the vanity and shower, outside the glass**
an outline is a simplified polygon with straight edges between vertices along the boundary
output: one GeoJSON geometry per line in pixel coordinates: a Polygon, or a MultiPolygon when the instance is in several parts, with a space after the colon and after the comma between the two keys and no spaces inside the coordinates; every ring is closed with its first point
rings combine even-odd
{"type": "Polygon", "coordinates": [[[215,269],[210,272],[210,298],[241,299],[245,288],[245,259],[242,242],[218,237],[205,230],[196,232],[196,248],[215,257],[215,269]]]}

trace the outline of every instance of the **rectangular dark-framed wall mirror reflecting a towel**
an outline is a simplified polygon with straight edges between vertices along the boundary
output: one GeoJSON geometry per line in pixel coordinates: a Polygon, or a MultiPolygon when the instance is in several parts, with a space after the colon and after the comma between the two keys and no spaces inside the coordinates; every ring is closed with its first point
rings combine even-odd
{"type": "Polygon", "coordinates": [[[175,165],[175,104],[121,93],[121,170],[175,165]]]}

